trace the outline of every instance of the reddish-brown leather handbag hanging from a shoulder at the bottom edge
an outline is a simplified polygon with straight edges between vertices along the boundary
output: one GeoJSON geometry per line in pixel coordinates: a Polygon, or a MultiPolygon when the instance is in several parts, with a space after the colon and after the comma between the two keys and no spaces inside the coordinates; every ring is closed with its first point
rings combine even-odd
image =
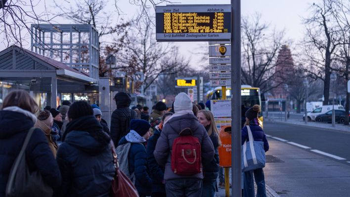
{"type": "Polygon", "coordinates": [[[131,180],[119,170],[118,158],[112,141],[111,148],[116,168],[116,174],[112,180],[111,197],[139,197],[131,180]]]}

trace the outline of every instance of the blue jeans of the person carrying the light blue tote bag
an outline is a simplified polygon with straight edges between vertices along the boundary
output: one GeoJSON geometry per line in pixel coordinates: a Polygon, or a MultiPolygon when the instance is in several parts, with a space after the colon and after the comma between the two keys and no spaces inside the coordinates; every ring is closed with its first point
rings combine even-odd
{"type": "Polygon", "coordinates": [[[266,197],[265,178],[262,168],[244,172],[244,188],[245,197],[255,197],[254,179],[257,184],[257,197],[266,197]],[[254,177],[253,177],[254,175],[254,177]]]}

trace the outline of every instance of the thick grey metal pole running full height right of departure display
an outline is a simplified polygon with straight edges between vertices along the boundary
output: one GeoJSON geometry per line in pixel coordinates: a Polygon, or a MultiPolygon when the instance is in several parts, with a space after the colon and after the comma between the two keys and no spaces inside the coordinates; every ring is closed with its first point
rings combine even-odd
{"type": "Polygon", "coordinates": [[[232,197],[241,197],[241,0],[231,0],[232,197]]]}

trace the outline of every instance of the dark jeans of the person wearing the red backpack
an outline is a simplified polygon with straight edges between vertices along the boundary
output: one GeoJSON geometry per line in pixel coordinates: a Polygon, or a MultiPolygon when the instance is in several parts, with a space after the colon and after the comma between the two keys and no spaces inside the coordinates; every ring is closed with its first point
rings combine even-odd
{"type": "Polygon", "coordinates": [[[167,197],[200,197],[202,187],[202,179],[195,178],[173,179],[165,182],[167,197]]]}

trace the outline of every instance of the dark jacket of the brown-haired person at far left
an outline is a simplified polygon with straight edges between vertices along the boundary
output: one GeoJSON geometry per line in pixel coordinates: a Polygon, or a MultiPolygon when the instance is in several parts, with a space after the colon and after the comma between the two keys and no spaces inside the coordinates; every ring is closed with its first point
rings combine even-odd
{"type": "MultiPolygon", "coordinates": [[[[22,113],[0,111],[0,197],[5,197],[11,167],[33,126],[33,120],[22,113]]],[[[61,174],[41,129],[35,129],[29,140],[26,160],[30,170],[39,170],[47,185],[52,188],[60,186],[61,174]]]]}

